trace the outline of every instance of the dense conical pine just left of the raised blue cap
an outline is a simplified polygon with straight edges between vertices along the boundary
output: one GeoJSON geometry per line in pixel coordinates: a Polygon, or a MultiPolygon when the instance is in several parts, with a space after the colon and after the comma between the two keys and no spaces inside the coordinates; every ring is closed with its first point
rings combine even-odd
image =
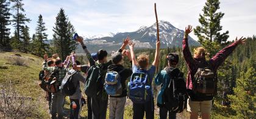
{"type": "Polygon", "coordinates": [[[64,60],[67,55],[69,55],[73,50],[76,50],[76,42],[72,40],[74,27],[71,22],[68,21],[63,9],[60,9],[60,12],[56,17],[53,31],[53,49],[55,52],[59,53],[60,58],[64,60]]]}

